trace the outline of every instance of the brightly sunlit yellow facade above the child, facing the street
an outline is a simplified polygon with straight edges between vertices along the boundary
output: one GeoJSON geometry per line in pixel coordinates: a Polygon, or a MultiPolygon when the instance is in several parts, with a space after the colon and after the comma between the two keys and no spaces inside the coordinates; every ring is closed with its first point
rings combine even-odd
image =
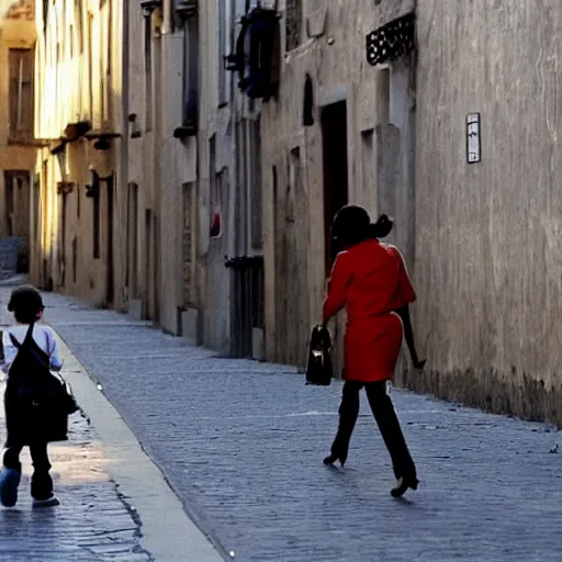
{"type": "Polygon", "coordinates": [[[125,205],[121,186],[121,140],[113,138],[108,150],[99,150],[94,146],[98,138],[82,137],[67,143],[59,156],[50,153],[70,123],[89,121],[90,133],[94,135],[121,135],[124,128],[122,2],[106,2],[103,7],[82,2],[81,7],[82,11],[77,12],[76,3],[70,0],[49,4],[44,35],[43,8],[37,3],[35,136],[48,146],[37,158],[41,234],[37,236],[40,247],[34,250],[38,263],[33,265],[32,280],[95,305],[121,308],[125,297],[122,291],[125,259],[122,210],[125,205]],[[99,256],[93,251],[93,200],[86,196],[91,169],[102,180],[99,256]],[[104,181],[109,177],[113,177],[111,204],[104,181]],[[57,192],[60,181],[71,184],[66,195],[57,192]],[[110,207],[113,207],[112,224],[110,207]]]}

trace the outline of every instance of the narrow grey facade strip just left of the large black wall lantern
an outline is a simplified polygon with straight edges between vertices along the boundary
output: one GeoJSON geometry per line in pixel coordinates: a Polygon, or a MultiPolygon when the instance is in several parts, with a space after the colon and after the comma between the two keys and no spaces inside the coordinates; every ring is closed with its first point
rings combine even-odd
{"type": "MultiPolygon", "coordinates": [[[[216,2],[207,2],[200,12],[201,100],[198,135],[198,229],[196,229],[196,304],[201,315],[201,340],[204,345],[228,353],[231,350],[231,276],[224,266],[225,256],[234,256],[235,224],[235,128],[239,97],[232,91],[222,105],[218,95],[218,14],[216,2]],[[211,165],[210,140],[215,138],[215,162],[211,165]],[[222,235],[211,238],[212,176],[223,170],[224,183],[218,201],[222,212],[222,235]]],[[[227,77],[231,80],[231,77],[227,77]]]]}

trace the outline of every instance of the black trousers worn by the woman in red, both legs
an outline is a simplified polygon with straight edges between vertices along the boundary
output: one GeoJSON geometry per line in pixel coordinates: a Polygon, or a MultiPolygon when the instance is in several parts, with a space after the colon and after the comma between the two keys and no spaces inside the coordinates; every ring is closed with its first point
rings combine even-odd
{"type": "Polygon", "coordinates": [[[416,477],[416,467],[409,454],[396,412],[386,392],[386,381],[361,383],[346,381],[339,406],[339,427],[331,446],[333,454],[347,459],[349,441],[359,416],[359,393],[364,386],[369,405],[381,436],[389,449],[396,479],[416,477]]]}

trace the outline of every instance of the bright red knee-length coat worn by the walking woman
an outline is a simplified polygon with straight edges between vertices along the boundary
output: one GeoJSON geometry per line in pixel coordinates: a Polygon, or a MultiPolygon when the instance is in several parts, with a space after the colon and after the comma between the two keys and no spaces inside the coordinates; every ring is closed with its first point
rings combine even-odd
{"type": "Polygon", "coordinates": [[[392,379],[404,331],[393,311],[415,300],[404,259],[394,246],[366,240],[337,256],[324,301],[324,322],[346,306],[347,380],[392,379]]]}

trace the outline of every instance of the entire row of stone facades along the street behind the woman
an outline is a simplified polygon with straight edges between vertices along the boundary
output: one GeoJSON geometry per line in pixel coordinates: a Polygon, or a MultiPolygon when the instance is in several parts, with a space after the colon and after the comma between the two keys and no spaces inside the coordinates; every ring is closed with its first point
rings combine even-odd
{"type": "Polygon", "coordinates": [[[428,368],[398,380],[560,423],[562,4],[352,4],[263,0],[267,67],[239,56],[247,0],[38,2],[34,279],[303,366],[331,217],[361,204],[395,218],[418,292],[428,368]],[[373,55],[403,25],[416,48],[373,55]]]}

